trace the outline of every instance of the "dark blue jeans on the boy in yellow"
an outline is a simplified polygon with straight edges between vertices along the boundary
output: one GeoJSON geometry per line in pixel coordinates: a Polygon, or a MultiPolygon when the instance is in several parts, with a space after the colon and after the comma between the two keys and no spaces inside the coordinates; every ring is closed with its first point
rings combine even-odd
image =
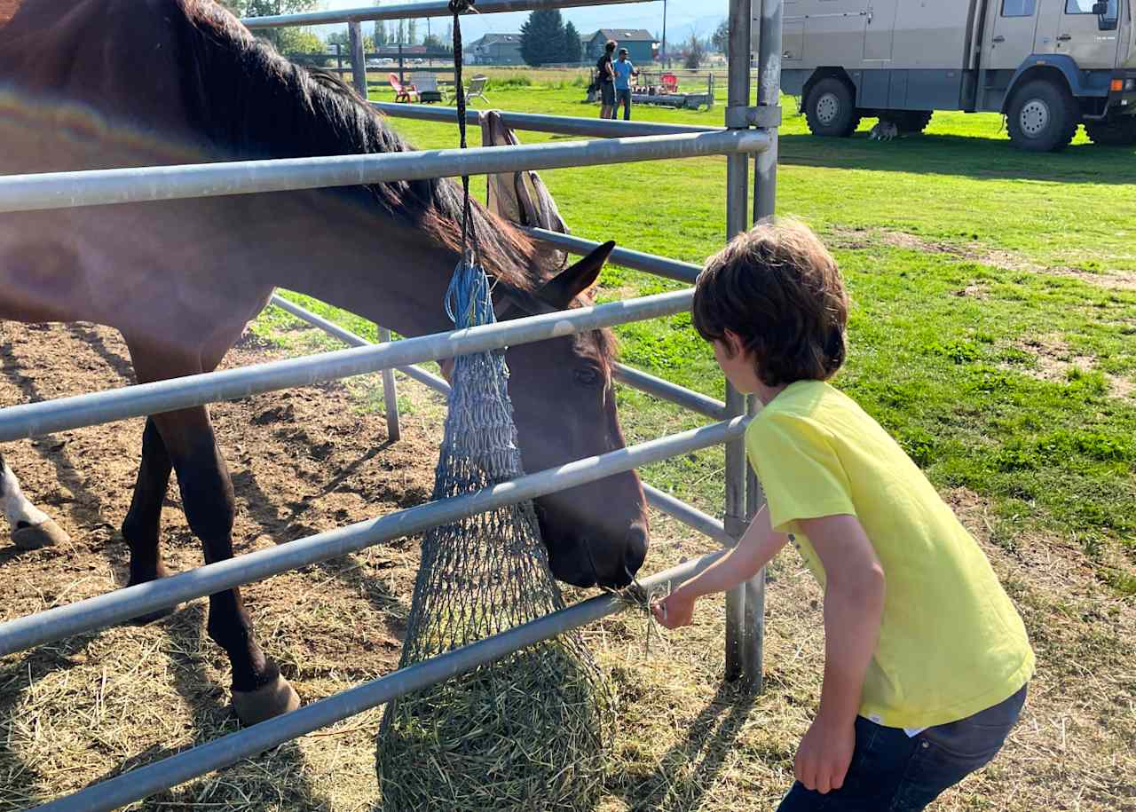
{"type": "Polygon", "coordinates": [[[972,717],[909,737],[862,717],[844,785],[825,795],[793,785],[777,812],[918,812],[1002,748],[1026,702],[1026,686],[972,717]]]}

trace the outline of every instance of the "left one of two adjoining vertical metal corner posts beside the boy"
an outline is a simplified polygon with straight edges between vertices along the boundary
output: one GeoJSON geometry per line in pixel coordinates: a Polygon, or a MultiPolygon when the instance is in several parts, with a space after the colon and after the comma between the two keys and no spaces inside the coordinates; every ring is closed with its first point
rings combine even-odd
{"type": "MultiPolygon", "coordinates": [[[[745,108],[750,103],[750,0],[729,2],[729,76],[727,85],[727,126],[745,128],[744,119],[732,118],[732,108],[745,108]]],[[[749,225],[749,158],[729,156],[726,159],[726,237],[745,231],[749,225]]],[[[726,415],[734,417],[745,412],[745,397],[727,382],[726,415]]],[[[727,418],[728,419],[728,418],[727,418]]],[[[745,445],[742,438],[726,444],[726,531],[735,539],[742,537],[746,527],[746,464],[745,445]]],[[[753,635],[759,630],[752,621],[757,581],[743,584],[726,594],[726,679],[741,680],[745,689],[761,685],[761,662],[754,658],[760,645],[753,635]]]]}

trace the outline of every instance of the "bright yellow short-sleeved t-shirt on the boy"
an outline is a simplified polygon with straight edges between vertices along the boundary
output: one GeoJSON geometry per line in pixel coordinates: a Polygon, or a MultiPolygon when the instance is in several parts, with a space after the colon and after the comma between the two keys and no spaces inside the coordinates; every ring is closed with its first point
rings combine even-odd
{"type": "Polygon", "coordinates": [[[799,519],[846,513],[884,568],[879,645],[860,715],[925,728],[1012,696],[1034,673],[1026,628],[974,537],[899,444],[852,399],[797,380],[745,430],[774,529],[825,586],[799,519]]]}

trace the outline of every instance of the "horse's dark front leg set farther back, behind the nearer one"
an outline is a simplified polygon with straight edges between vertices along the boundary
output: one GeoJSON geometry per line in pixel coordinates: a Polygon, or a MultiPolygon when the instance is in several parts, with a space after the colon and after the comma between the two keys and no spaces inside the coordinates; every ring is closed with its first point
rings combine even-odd
{"type": "MultiPolygon", "coordinates": [[[[161,560],[159,547],[161,530],[161,508],[169,487],[172,463],[166,444],[153,418],[147,418],[142,432],[142,460],[134,483],[131,509],[123,520],[123,538],[131,549],[131,579],[127,586],[145,584],[148,580],[169,575],[161,560]]],[[[135,618],[135,623],[148,623],[162,618],[177,606],[159,609],[150,614],[135,618]]]]}

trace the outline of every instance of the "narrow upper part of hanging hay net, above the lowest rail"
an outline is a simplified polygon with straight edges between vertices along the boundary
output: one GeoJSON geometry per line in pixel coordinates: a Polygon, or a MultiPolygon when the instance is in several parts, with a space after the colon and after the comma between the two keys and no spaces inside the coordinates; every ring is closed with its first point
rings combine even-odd
{"type": "MultiPolygon", "coordinates": [[[[446,312],[459,329],[495,319],[479,267],[454,273],[446,312]]],[[[433,499],[521,476],[503,351],[454,359],[433,499]]],[[[436,527],[423,542],[403,660],[414,662],[563,606],[532,502],[436,527]]]]}

